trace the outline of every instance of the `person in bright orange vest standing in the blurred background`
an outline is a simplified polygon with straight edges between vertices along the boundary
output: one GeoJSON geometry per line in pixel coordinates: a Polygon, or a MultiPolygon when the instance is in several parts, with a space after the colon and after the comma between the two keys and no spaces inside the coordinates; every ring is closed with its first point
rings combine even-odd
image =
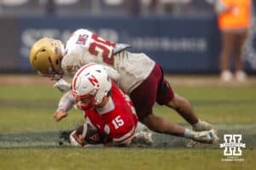
{"type": "Polygon", "coordinates": [[[236,80],[244,82],[247,75],[243,71],[242,49],[250,25],[252,2],[251,0],[215,0],[214,3],[218,13],[218,28],[222,37],[220,77],[224,82],[230,82],[232,79],[230,57],[233,54],[236,80]]]}

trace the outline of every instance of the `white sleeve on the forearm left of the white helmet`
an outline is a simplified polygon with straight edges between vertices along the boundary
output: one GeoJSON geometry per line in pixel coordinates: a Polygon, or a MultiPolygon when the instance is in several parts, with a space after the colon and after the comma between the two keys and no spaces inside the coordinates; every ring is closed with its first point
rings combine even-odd
{"type": "Polygon", "coordinates": [[[76,99],[69,91],[61,97],[57,111],[69,111],[75,103],[76,99]]]}

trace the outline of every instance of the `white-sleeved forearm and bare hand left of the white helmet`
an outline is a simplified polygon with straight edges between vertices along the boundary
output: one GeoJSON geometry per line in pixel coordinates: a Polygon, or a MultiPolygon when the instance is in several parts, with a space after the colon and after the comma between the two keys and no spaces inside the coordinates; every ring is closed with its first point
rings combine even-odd
{"type": "Polygon", "coordinates": [[[76,99],[73,97],[71,91],[64,94],[60,99],[58,109],[55,111],[55,121],[59,122],[62,118],[66,117],[67,111],[69,111],[75,103],[76,99]]]}

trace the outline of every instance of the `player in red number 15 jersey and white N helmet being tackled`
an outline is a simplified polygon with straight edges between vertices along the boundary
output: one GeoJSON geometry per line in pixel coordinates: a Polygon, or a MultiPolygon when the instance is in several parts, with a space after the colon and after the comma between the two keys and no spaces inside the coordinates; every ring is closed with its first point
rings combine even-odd
{"type": "MultiPolygon", "coordinates": [[[[81,104],[86,123],[105,134],[113,144],[129,145],[135,138],[138,119],[131,99],[108,78],[101,65],[92,63],[82,67],[73,77],[72,94],[81,104]]],[[[61,120],[57,115],[55,118],[61,120]]],[[[86,130],[83,129],[83,133],[86,130]]],[[[83,133],[71,135],[83,145],[83,133]]]]}

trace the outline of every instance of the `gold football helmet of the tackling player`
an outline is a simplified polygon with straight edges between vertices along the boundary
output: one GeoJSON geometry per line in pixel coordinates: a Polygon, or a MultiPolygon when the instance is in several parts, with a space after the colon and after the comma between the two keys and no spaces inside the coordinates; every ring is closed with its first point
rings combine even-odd
{"type": "Polygon", "coordinates": [[[44,37],[32,46],[30,64],[42,76],[54,77],[56,74],[62,74],[62,48],[64,46],[61,41],[44,37]]]}

